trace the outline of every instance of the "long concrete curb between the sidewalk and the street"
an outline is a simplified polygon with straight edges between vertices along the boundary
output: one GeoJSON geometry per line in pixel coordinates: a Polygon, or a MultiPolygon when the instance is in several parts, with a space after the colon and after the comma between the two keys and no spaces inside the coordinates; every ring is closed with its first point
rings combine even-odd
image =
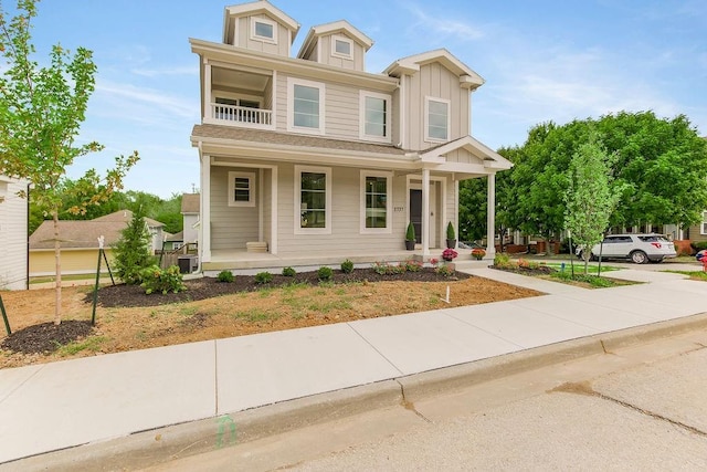
{"type": "Polygon", "coordinates": [[[0,464],[0,470],[130,470],[211,452],[303,427],[398,407],[523,371],[707,329],[707,313],[540,346],[374,384],[141,431],[0,464]]]}

